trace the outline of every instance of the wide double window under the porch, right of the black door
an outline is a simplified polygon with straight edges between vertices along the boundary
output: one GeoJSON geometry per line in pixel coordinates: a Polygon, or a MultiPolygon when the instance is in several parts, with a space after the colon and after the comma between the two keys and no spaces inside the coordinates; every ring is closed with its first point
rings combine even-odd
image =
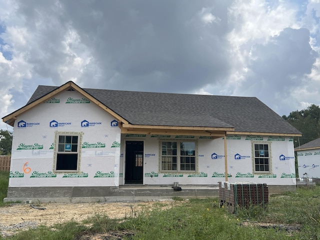
{"type": "Polygon", "coordinates": [[[195,171],[194,141],[162,141],[161,171],[195,171]]]}

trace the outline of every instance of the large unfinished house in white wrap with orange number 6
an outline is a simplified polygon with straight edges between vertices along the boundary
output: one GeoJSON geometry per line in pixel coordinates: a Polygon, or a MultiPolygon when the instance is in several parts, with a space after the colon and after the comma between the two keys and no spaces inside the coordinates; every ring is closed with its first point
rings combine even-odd
{"type": "Polygon", "coordinates": [[[208,192],[225,180],[267,183],[269,192],[295,189],[293,136],[301,133],[256,97],[89,89],[69,81],[39,85],[2,119],[14,127],[5,200],[107,199],[124,196],[126,186],[172,190],[176,182],[181,194],[189,185],[208,192]]]}

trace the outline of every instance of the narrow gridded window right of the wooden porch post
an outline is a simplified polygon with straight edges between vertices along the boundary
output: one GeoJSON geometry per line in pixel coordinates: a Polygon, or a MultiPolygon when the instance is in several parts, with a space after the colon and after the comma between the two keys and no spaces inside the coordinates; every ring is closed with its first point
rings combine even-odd
{"type": "Polygon", "coordinates": [[[254,171],[270,172],[269,144],[254,143],[254,171]]]}

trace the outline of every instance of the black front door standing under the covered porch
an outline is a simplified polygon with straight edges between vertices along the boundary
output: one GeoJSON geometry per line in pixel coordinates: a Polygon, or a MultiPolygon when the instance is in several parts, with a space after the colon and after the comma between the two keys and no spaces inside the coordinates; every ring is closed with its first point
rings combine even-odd
{"type": "Polygon", "coordinates": [[[125,184],[143,183],[143,141],[125,142],[125,184]]]}

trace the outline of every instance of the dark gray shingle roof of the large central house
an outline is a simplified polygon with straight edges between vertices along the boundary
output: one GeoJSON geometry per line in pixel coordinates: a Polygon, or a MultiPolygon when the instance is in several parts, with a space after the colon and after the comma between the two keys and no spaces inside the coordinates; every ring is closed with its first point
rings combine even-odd
{"type": "MultiPolygon", "coordinates": [[[[28,103],[56,88],[39,85],[28,103]]],[[[131,124],[234,127],[235,131],[300,134],[256,97],[82,89],[131,124]]]]}

